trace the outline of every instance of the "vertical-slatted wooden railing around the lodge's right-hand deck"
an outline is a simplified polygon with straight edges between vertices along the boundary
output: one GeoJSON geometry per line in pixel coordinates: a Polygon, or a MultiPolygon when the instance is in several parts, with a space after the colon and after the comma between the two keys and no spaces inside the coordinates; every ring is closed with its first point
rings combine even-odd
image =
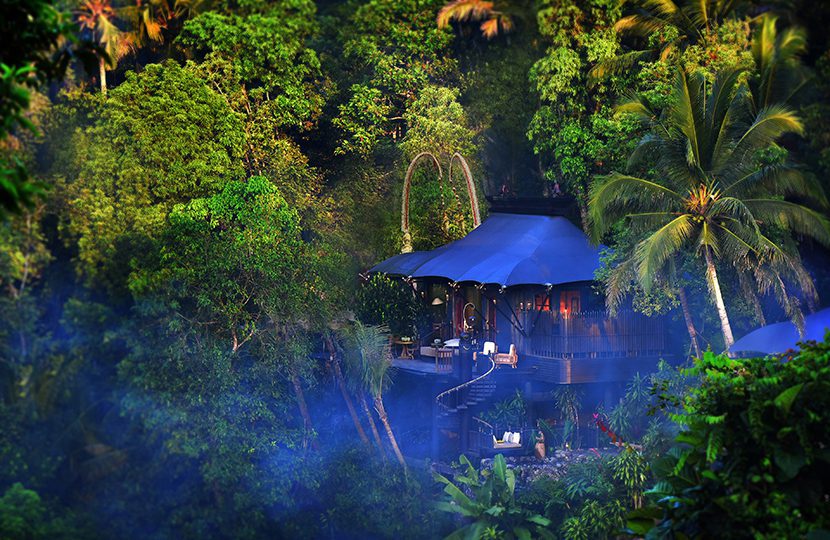
{"type": "Polygon", "coordinates": [[[659,355],[665,350],[663,321],[634,312],[611,317],[605,311],[563,315],[557,311],[519,313],[525,336],[520,355],[540,358],[619,358],[659,355]]]}

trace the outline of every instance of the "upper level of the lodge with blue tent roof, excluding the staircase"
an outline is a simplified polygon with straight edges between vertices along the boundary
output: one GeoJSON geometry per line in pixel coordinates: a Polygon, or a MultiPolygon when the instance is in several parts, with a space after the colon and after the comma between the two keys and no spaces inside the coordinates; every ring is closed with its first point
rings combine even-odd
{"type": "Polygon", "coordinates": [[[435,314],[431,331],[412,344],[399,339],[412,336],[396,337],[401,359],[414,361],[399,367],[418,369],[420,358],[424,371],[446,370],[428,359],[467,335],[479,351],[486,342],[499,353],[512,347],[512,367],[554,384],[625,381],[651,371],[664,353],[662,321],[604,311],[593,290],[604,248],[565,216],[514,213],[516,206],[494,206],[464,238],[370,270],[406,279],[435,314]]]}

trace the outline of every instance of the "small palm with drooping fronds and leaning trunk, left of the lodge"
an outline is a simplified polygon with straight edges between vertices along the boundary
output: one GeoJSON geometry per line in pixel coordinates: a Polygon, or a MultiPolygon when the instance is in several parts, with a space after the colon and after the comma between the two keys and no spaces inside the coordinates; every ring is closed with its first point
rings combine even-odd
{"type": "Polygon", "coordinates": [[[392,445],[395,457],[406,470],[406,460],[395,439],[392,426],[389,424],[389,415],[383,404],[383,391],[389,386],[389,368],[392,367],[392,351],[389,344],[389,330],[383,326],[364,325],[358,321],[352,329],[351,346],[360,363],[363,388],[372,396],[375,411],[386,430],[389,444],[392,445]]]}

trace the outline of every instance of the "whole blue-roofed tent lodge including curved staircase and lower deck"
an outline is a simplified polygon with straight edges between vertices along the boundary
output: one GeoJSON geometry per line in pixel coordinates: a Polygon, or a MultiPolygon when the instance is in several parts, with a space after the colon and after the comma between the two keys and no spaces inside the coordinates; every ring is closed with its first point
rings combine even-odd
{"type": "Polygon", "coordinates": [[[502,396],[518,390],[531,403],[529,435],[545,415],[534,402],[559,385],[611,401],[666,356],[661,318],[605,311],[594,282],[604,248],[566,217],[566,201],[490,202],[464,238],[370,270],[405,280],[433,315],[418,335],[393,336],[393,365],[429,386],[433,457],[523,446],[491,442],[503,427],[478,418],[502,396]]]}

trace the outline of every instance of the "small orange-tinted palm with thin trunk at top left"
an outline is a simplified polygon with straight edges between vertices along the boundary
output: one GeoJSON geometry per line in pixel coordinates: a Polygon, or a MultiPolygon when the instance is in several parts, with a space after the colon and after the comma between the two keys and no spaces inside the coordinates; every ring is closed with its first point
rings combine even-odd
{"type": "Polygon", "coordinates": [[[93,39],[106,55],[98,59],[101,93],[107,93],[107,68],[115,68],[118,60],[127,55],[135,45],[135,36],[124,32],[115,24],[115,9],[110,0],[84,0],[77,12],[78,23],[92,33],[93,39]]]}

